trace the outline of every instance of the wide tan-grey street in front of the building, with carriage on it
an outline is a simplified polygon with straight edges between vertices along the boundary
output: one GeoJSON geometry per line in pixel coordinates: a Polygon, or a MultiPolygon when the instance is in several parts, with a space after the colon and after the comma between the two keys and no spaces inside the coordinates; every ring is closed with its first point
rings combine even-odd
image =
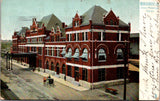
{"type": "MultiPolygon", "coordinates": [[[[2,60],[2,63],[5,63],[2,60]]],[[[52,99],[52,100],[118,100],[100,90],[76,91],[58,82],[54,87],[43,85],[43,77],[29,68],[13,65],[12,71],[7,71],[2,65],[1,79],[7,82],[9,88],[20,99],[52,99]]]]}

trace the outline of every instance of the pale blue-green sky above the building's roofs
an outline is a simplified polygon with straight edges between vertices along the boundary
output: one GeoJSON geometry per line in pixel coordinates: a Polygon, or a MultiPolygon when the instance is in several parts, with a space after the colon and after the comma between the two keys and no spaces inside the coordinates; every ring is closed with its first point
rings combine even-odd
{"type": "Polygon", "coordinates": [[[40,21],[54,14],[69,25],[76,12],[82,15],[95,5],[107,11],[112,9],[125,23],[131,23],[131,33],[138,33],[139,0],[2,0],[1,38],[11,40],[14,31],[32,24],[33,17],[40,21]]]}

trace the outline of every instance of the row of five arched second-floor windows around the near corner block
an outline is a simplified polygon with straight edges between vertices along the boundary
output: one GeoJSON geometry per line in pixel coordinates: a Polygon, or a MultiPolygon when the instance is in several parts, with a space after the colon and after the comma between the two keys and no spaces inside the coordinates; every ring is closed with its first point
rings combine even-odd
{"type": "MultiPolygon", "coordinates": [[[[79,59],[82,58],[82,60],[88,60],[90,57],[90,51],[87,47],[84,47],[83,49],[79,48],[80,46],[78,45],[77,47],[72,49],[71,45],[68,45],[66,48],[67,54],[65,55],[66,58],[75,58],[79,59]],[[81,51],[81,52],[80,52],[81,51]]],[[[97,48],[95,49],[95,57],[98,57],[98,61],[106,61],[107,59],[107,54],[109,54],[109,48],[105,44],[99,44],[97,48]]],[[[118,44],[114,48],[114,54],[117,56],[117,60],[123,60],[124,56],[124,45],[123,44],[118,44]]]]}

